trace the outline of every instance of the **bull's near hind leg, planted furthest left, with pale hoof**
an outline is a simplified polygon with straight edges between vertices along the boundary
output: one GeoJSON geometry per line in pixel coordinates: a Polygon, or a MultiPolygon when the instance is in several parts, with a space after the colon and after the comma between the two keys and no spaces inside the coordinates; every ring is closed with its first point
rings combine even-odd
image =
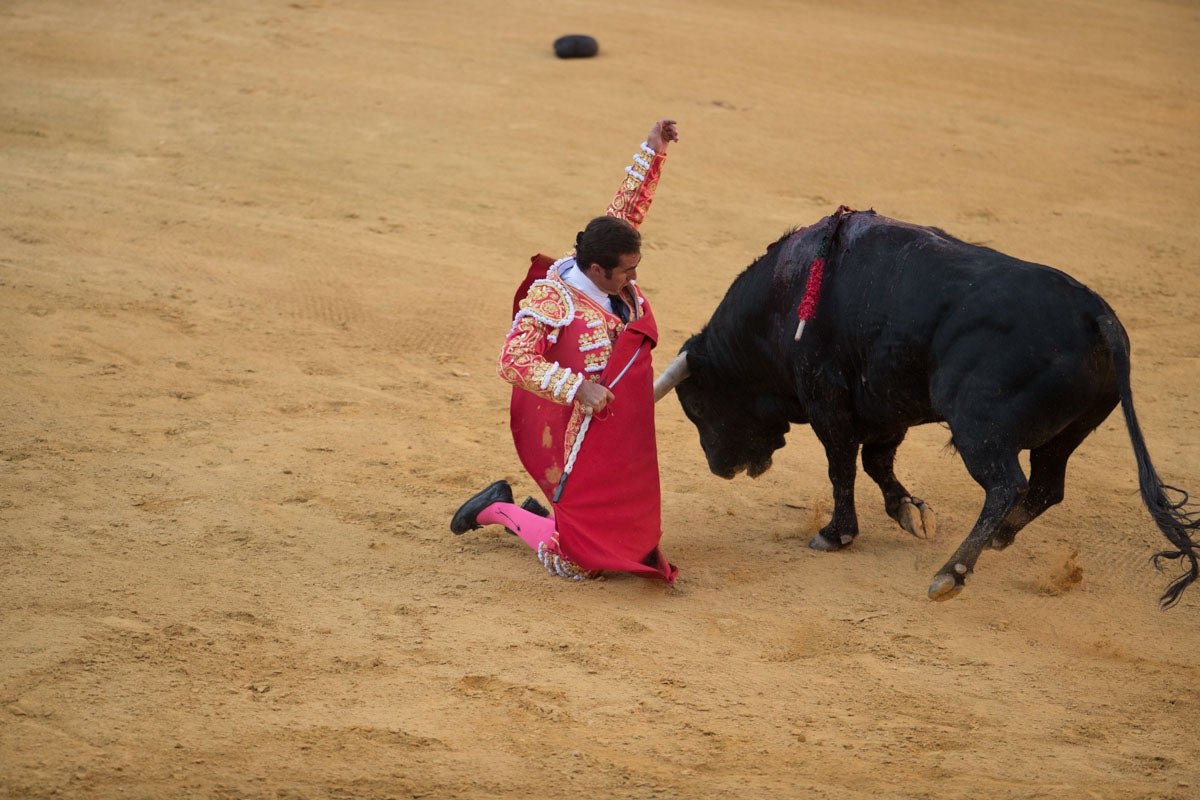
{"type": "Polygon", "coordinates": [[[949,600],[962,591],[979,554],[1013,509],[1021,503],[1028,488],[1015,450],[998,457],[980,457],[961,450],[960,453],[971,476],[984,488],[986,495],[974,528],[954,551],[950,560],[934,576],[929,585],[930,600],[949,600]]]}

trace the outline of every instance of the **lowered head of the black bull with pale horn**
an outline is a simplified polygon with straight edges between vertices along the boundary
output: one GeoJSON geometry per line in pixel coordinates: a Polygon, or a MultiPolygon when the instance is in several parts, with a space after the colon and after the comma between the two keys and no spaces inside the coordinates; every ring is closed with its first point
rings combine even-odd
{"type": "Polygon", "coordinates": [[[774,398],[756,396],[737,379],[720,374],[708,360],[703,336],[691,337],[654,383],[654,398],[676,390],[684,414],[700,432],[700,446],[714,475],[732,479],[745,470],[758,477],[785,444],[791,427],[787,411],[774,398]]]}

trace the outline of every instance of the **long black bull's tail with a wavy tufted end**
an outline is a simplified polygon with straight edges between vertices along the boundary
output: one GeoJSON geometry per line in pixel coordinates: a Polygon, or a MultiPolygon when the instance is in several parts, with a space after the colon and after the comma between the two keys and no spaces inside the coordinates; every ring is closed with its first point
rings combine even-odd
{"type": "Polygon", "coordinates": [[[1200,511],[1187,511],[1188,493],[1174,486],[1166,486],[1154,465],[1150,461],[1146,451],[1146,440],[1141,435],[1141,427],[1138,425],[1138,415],[1133,410],[1133,391],[1129,387],[1129,339],[1126,338],[1124,329],[1116,317],[1105,314],[1099,318],[1100,331],[1112,354],[1112,365],[1117,373],[1117,391],[1121,396],[1121,410],[1124,413],[1126,427],[1129,429],[1129,440],[1133,443],[1134,457],[1138,461],[1138,485],[1141,488],[1141,499],[1150,510],[1150,516],[1154,518],[1163,535],[1175,546],[1176,549],[1156,553],[1152,561],[1159,571],[1163,569],[1163,560],[1186,559],[1189,569],[1178,578],[1171,582],[1166,591],[1159,597],[1163,608],[1170,608],[1180,600],[1180,595],[1198,577],[1200,577],[1200,558],[1198,558],[1196,542],[1192,541],[1189,531],[1200,528],[1200,511]],[[1178,499],[1172,501],[1170,495],[1178,499]]]}

